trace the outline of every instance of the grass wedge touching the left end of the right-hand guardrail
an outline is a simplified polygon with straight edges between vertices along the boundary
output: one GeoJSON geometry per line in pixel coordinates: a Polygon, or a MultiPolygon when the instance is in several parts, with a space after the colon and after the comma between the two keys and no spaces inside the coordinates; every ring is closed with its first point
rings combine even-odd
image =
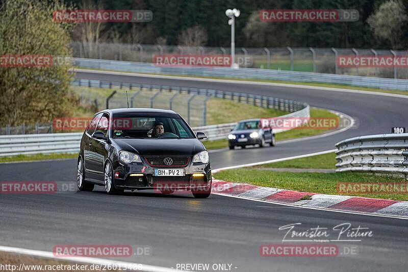
{"type": "Polygon", "coordinates": [[[321,169],[331,169],[336,168],[336,154],[327,153],[323,155],[316,155],[312,157],[305,157],[300,159],[280,161],[273,163],[266,163],[261,165],[256,165],[256,168],[321,168],[321,169]]]}

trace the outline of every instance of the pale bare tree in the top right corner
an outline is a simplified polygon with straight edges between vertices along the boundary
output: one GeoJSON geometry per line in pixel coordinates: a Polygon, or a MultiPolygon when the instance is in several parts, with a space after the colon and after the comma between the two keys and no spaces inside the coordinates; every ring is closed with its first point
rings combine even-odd
{"type": "Polygon", "coordinates": [[[390,41],[392,48],[397,49],[407,20],[404,5],[398,0],[391,0],[381,4],[367,22],[376,37],[390,41]]]}

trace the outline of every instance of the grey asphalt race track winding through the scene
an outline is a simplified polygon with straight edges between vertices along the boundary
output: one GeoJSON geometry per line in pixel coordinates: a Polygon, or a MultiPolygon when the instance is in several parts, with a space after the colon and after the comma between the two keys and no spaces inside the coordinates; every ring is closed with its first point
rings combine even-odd
{"type": "MultiPolygon", "coordinates": [[[[407,100],[398,97],[262,85],[152,79],[78,72],[77,78],[211,88],[270,95],[336,110],[358,121],[358,128],[319,139],[263,149],[210,153],[213,168],[284,158],[335,148],[353,136],[390,133],[406,127],[407,100]]],[[[0,164],[0,181],[71,181],[76,161],[0,164]]],[[[161,195],[149,191],[107,195],[94,192],[0,194],[0,245],[52,251],[56,244],[130,244],[149,246],[151,255],[120,259],[176,268],[177,263],[232,264],[232,271],[406,270],[408,220],[304,209],[213,194],[161,195]],[[336,242],[354,254],[339,257],[261,257],[262,244],[282,244],[279,227],[300,222],[310,228],[333,228],[349,222],[369,228],[372,237],[336,242]],[[236,268],[235,268],[236,267],[236,268]]],[[[336,239],[335,234],[331,238],[336,239]]],[[[342,236],[347,238],[346,234],[342,236]]],[[[292,242],[293,243],[293,242],[292,242]]],[[[294,243],[296,244],[296,243],[294,243]]],[[[299,244],[299,243],[297,243],[299,244]]],[[[330,244],[334,244],[331,242],[330,244]]],[[[227,266],[228,267],[228,266],[227,266]]],[[[212,271],[212,269],[210,269],[212,271]]]]}

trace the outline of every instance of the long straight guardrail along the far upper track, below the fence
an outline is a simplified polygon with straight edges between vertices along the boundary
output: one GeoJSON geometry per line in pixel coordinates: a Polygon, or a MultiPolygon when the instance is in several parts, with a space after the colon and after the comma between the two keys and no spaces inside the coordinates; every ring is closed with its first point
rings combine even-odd
{"type": "Polygon", "coordinates": [[[166,75],[185,75],[200,77],[222,77],[238,79],[264,79],[290,82],[329,83],[349,85],[356,87],[372,87],[379,89],[393,89],[408,91],[408,80],[360,77],[348,75],[332,75],[328,73],[279,71],[271,69],[230,67],[183,67],[183,66],[158,66],[152,63],[81,59],[73,58],[73,65],[81,68],[103,70],[161,73],[166,75]]]}

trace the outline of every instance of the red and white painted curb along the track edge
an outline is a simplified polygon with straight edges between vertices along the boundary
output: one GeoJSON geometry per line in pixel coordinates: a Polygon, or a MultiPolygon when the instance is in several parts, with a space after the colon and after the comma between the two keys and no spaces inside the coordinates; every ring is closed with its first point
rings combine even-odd
{"type": "Polygon", "coordinates": [[[212,193],[248,200],[266,201],[304,208],[344,211],[387,217],[408,218],[408,201],[370,199],[369,197],[308,193],[260,187],[213,179],[212,193]],[[300,200],[311,195],[311,200],[300,200]]]}

